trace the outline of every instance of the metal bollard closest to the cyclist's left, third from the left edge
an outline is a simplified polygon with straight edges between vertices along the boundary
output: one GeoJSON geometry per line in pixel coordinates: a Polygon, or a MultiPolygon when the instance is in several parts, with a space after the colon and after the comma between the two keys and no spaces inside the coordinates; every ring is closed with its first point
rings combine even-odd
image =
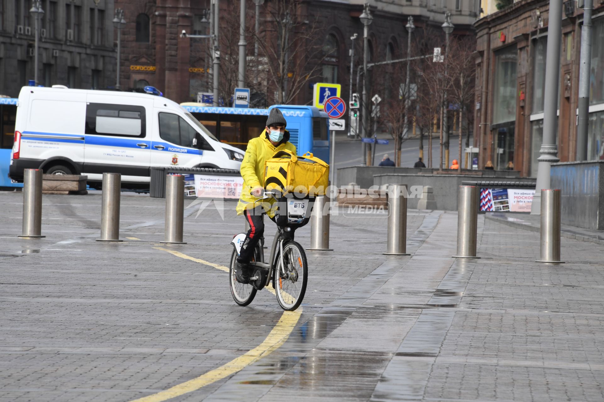
{"type": "Polygon", "coordinates": [[[167,175],[165,178],[165,229],[162,243],[186,244],[182,241],[185,210],[185,177],[167,175]]]}

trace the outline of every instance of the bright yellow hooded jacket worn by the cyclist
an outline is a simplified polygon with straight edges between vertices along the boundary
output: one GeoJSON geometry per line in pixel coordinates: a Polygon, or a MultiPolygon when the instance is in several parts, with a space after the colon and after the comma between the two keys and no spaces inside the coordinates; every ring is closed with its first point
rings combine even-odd
{"type": "Polygon", "coordinates": [[[278,146],[272,145],[268,138],[266,138],[266,130],[262,131],[259,137],[252,138],[248,142],[248,148],[245,150],[245,156],[241,163],[241,176],[243,177],[243,188],[241,190],[241,197],[239,203],[237,203],[237,215],[243,215],[243,211],[246,209],[253,209],[256,206],[262,205],[265,212],[269,216],[272,216],[271,211],[272,203],[263,202],[255,203],[256,198],[251,195],[251,191],[256,187],[264,187],[264,169],[265,162],[267,159],[271,159],[277,151],[282,149],[288,149],[294,154],[296,153],[296,146],[289,140],[289,131],[285,130],[283,140],[278,146]]]}

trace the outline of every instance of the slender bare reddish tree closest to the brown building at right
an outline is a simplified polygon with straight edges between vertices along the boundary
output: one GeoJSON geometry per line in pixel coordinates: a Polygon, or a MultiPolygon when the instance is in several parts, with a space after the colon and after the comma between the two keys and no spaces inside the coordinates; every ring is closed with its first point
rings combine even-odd
{"type": "MultiPolygon", "coordinates": [[[[449,89],[451,101],[459,110],[459,163],[458,171],[461,172],[461,157],[463,145],[463,119],[465,111],[471,110],[474,101],[474,85],[476,80],[475,50],[476,42],[472,37],[458,37],[452,41],[450,51],[452,57],[448,59],[448,76],[452,85],[449,89]]],[[[468,115],[471,113],[467,113],[468,115]]]]}

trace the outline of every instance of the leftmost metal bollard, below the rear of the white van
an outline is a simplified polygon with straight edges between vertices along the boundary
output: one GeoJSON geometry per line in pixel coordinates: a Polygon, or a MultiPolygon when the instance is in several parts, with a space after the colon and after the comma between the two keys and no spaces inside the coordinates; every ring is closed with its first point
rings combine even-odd
{"type": "Polygon", "coordinates": [[[25,169],[23,177],[23,229],[19,237],[42,236],[42,170],[25,169]]]}

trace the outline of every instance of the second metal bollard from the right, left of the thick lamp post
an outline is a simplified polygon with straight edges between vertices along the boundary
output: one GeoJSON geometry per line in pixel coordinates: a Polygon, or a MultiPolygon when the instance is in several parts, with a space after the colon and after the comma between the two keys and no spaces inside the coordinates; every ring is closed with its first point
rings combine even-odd
{"type": "Polygon", "coordinates": [[[457,199],[457,256],[476,256],[476,232],[478,229],[478,187],[459,186],[457,199]]]}

